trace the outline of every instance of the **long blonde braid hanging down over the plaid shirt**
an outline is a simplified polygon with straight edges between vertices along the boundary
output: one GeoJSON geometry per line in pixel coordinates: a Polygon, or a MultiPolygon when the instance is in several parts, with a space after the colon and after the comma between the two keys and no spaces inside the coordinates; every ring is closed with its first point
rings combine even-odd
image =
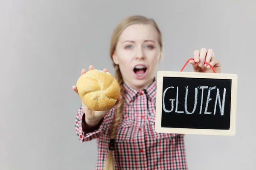
{"type": "MultiPolygon", "coordinates": [[[[119,83],[119,86],[120,86],[120,95],[123,96],[124,94],[123,79],[122,79],[121,71],[119,69],[119,65],[115,65],[115,73],[116,73],[116,81],[119,83]]],[[[119,120],[122,118],[122,112],[123,112],[123,98],[116,105],[116,115],[109,131],[110,150],[108,152],[104,170],[114,170],[114,164],[113,164],[114,139],[116,137],[116,130],[119,124],[119,120]]]]}

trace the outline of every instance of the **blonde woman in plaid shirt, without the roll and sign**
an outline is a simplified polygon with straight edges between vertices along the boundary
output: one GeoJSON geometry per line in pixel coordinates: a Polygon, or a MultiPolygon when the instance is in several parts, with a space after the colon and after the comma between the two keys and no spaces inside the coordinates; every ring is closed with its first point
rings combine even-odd
{"type": "MultiPolygon", "coordinates": [[[[154,74],[162,51],[162,34],[152,19],[127,17],[113,31],[110,56],[121,95],[109,111],[92,111],[82,102],[76,116],[81,142],[97,140],[97,170],[187,169],[183,135],[156,133],[154,128],[154,74]]],[[[189,62],[195,72],[211,72],[205,61],[221,72],[211,49],[196,50],[189,62]]],[[[73,90],[78,93],[76,86],[73,90]]]]}

